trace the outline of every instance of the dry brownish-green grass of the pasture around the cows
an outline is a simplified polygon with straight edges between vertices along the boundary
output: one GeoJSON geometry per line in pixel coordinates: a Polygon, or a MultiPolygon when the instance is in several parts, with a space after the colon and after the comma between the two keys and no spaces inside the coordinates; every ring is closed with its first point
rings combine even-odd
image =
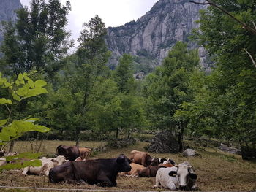
{"type": "MultiPolygon", "coordinates": [[[[47,141],[42,147],[42,153],[53,155],[58,145],[74,145],[75,142],[47,141]]],[[[102,145],[100,142],[81,142],[81,146],[96,148],[102,145]]],[[[91,158],[114,158],[121,153],[129,155],[131,150],[144,150],[148,142],[140,142],[137,145],[123,149],[108,149],[102,153],[96,153],[91,158]]],[[[15,150],[25,152],[31,149],[29,142],[16,142],[15,150]]],[[[189,161],[197,173],[198,191],[256,191],[256,163],[243,161],[241,156],[229,155],[217,150],[217,148],[206,147],[199,151],[200,156],[195,158],[184,158],[180,154],[155,154],[151,156],[159,158],[172,158],[177,164],[189,161]]],[[[39,188],[80,188],[80,189],[99,189],[99,190],[143,190],[152,191],[154,185],[153,178],[129,178],[118,177],[117,187],[101,188],[96,185],[68,185],[65,183],[52,184],[45,176],[21,175],[21,171],[3,172],[0,174],[0,185],[27,186],[39,188]]],[[[157,191],[166,191],[157,189],[157,191]]],[[[9,190],[7,190],[9,191],[9,190]]]]}

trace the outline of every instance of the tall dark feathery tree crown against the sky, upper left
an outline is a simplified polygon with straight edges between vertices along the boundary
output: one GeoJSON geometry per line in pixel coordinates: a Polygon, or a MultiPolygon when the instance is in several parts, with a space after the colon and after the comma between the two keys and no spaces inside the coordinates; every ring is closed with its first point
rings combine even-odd
{"type": "Polygon", "coordinates": [[[18,9],[17,23],[4,24],[1,69],[16,75],[36,69],[53,77],[72,45],[65,31],[69,10],[69,1],[62,6],[59,0],[32,0],[30,10],[18,9]]]}

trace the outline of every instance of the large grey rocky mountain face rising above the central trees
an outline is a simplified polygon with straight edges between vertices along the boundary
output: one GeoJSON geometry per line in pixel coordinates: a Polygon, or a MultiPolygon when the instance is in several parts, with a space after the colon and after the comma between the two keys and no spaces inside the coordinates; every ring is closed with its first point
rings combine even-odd
{"type": "MultiPolygon", "coordinates": [[[[192,28],[198,27],[195,21],[199,19],[200,9],[206,6],[189,3],[189,0],[159,0],[137,21],[109,27],[106,43],[112,51],[110,66],[116,66],[124,53],[134,55],[135,62],[141,66],[160,65],[177,41],[188,42],[192,28]]],[[[189,47],[196,45],[189,42],[189,47]]],[[[202,62],[204,57],[200,47],[202,62]]]]}

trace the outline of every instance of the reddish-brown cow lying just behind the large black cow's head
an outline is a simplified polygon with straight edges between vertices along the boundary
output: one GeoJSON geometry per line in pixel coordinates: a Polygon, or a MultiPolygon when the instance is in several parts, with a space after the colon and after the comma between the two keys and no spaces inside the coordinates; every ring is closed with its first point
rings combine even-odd
{"type": "Polygon", "coordinates": [[[132,150],[129,156],[129,159],[135,163],[135,164],[140,164],[143,166],[149,166],[151,164],[152,158],[151,156],[142,151],[138,150],[132,150]]]}

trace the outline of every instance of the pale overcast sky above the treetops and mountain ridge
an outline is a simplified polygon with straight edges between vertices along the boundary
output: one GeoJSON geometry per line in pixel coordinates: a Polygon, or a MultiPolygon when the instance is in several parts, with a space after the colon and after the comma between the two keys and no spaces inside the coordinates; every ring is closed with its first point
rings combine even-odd
{"type": "MultiPolygon", "coordinates": [[[[67,30],[72,32],[72,39],[78,39],[83,23],[99,15],[105,25],[121,26],[131,20],[145,15],[157,0],[69,0],[69,24],[67,30]]],[[[20,0],[29,7],[30,0],[20,0]]],[[[61,0],[64,4],[66,0],[61,0]]]]}

